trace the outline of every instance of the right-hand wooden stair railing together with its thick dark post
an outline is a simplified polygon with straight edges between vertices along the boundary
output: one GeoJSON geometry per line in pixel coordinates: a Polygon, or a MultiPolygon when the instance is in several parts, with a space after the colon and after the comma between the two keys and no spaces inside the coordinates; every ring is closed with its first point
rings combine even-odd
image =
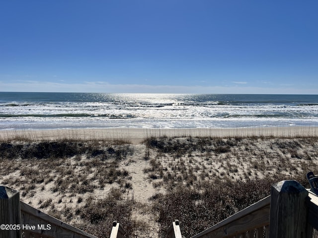
{"type": "Polygon", "coordinates": [[[318,229],[316,178],[311,190],[295,180],[280,181],[271,187],[270,196],[192,238],[312,238],[313,229],[318,229]]]}

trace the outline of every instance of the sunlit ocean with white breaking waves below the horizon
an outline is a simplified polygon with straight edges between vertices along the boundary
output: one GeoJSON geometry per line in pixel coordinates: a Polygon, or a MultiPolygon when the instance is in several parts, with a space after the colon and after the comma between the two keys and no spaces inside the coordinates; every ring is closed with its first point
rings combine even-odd
{"type": "Polygon", "coordinates": [[[0,130],[318,126],[318,95],[0,92],[0,130]]]}

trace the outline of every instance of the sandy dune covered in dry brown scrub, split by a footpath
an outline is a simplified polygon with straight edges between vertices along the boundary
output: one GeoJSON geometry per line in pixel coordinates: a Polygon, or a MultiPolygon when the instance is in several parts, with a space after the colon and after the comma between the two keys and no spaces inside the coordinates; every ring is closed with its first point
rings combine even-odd
{"type": "Polygon", "coordinates": [[[295,179],[318,172],[318,138],[149,138],[0,142],[0,184],[97,237],[117,220],[126,237],[191,237],[295,179]]]}

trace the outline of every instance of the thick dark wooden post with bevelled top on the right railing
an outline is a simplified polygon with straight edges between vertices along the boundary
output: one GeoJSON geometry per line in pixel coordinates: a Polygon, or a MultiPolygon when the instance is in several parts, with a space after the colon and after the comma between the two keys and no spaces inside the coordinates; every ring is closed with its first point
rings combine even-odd
{"type": "Polygon", "coordinates": [[[308,191],[295,180],[284,180],[271,187],[269,237],[305,238],[308,191]]]}

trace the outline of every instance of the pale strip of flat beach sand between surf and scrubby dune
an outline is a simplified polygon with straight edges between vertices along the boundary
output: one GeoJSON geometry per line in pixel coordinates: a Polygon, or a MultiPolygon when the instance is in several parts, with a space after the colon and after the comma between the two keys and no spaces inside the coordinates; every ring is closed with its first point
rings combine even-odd
{"type": "Polygon", "coordinates": [[[243,128],[99,128],[53,130],[0,130],[0,139],[123,140],[139,144],[149,137],[297,137],[318,136],[318,126],[243,128]]]}

